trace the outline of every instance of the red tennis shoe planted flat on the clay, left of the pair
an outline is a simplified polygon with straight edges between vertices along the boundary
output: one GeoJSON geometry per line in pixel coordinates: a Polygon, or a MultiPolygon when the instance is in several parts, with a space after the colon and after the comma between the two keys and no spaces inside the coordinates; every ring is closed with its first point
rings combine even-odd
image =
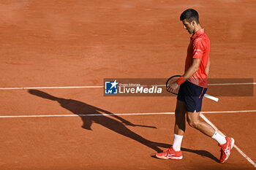
{"type": "Polygon", "coordinates": [[[181,154],[181,150],[176,152],[175,150],[173,150],[173,147],[167,148],[164,152],[157,153],[156,157],[160,159],[173,159],[173,160],[181,160],[183,158],[181,154]]]}

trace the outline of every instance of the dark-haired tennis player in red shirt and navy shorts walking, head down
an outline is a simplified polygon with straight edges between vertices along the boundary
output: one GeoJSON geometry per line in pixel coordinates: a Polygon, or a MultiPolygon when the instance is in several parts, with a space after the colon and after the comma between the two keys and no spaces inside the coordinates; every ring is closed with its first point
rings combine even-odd
{"type": "Polygon", "coordinates": [[[181,160],[183,158],[181,141],[185,132],[185,115],[187,114],[187,122],[190,126],[219,143],[221,152],[219,163],[224,163],[230,155],[230,150],[235,143],[234,139],[222,136],[211,125],[201,121],[199,118],[203,95],[208,88],[210,40],[200,26],[199,15],[195,9],[185,10],[181,14],[180,20],[184,25],[184,29],[189,34],[192,34],[192,37],[187,49],[185,73],[176,82],[167,85],[167,91],[169,92],[172,92],[180,85],[175,111],[174,142],[172,147],[167,148],[164,152],[157,153],[156,156],[157,158],[173,160],[181,160]]]}

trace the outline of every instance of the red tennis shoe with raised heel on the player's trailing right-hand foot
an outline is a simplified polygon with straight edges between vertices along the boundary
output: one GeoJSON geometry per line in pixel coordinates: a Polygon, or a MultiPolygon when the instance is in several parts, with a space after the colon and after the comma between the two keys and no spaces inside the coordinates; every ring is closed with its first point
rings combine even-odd
{"type": "Polygon", "coordinates": [[[233,138],[226,137],[225,139],[227,141],[225,144],[219,144],[219,163],[225,163],[225,161],[227,161],[227,158],[230,156],[230,151],[235,144],[235,140],[233,138]]]}

